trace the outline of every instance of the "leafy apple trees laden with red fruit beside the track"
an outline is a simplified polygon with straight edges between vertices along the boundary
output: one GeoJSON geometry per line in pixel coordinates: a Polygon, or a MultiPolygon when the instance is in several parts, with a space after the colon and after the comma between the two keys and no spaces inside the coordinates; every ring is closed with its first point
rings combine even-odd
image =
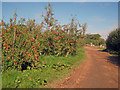
{"type": "Polygon", "coordinates": [[[75,23],[73,18],[70,24],[61,26],[54,19],[51,5],[45,9],[40,24],[25,18],[16,22],[16,12],[10,23],[1,21],[3,71],[40,68],[42,56],[76,55],[78,46],[83,46],[86,24],[75,23]]]}

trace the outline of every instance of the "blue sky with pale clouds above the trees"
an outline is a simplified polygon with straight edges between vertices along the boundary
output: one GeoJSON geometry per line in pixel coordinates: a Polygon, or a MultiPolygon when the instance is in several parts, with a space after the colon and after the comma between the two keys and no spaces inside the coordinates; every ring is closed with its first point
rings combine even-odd
{"type": "MultiPolygon", "coordinates": [[[[68,24],[75,17],[80,24],[87,23],[86,33],[107,35],[118,27],[118,2],[49,2],[53,5],[54,16],[59,24],[68,24]]],[[[40,15],[45,13],[48,2],[2,2],[2,17],[6,22],[13,18],[17,9],[17,20],[20,18],[42,21],[40,15]]],[[[0,4],[1,5],[1,4],[0,4]]]]}

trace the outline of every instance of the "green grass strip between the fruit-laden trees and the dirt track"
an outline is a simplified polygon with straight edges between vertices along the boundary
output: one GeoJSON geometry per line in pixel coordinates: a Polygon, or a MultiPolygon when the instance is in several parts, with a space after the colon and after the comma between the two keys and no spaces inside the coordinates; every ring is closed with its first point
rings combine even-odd
{"type": "Polygon", "coordinates": [[[48,88],[70,75],[78,67],[86,54],[80,48],[75,56],[56,57],[46,56],[41,59],[43,68],[21,71],[5,71],[2,73],[2,88],[48,88]],[[53,70],[54,69],[54,70],[53,70]]]}

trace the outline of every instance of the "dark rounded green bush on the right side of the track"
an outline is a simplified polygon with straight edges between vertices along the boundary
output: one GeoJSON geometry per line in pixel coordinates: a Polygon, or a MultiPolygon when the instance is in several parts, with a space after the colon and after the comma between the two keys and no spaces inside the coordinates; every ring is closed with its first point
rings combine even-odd
{"type": "Polygon", "coordinates": [[[107,40],[106,46],[108,50],[111,51],[120,51],[120,28],[112,31],[107,40]]]}

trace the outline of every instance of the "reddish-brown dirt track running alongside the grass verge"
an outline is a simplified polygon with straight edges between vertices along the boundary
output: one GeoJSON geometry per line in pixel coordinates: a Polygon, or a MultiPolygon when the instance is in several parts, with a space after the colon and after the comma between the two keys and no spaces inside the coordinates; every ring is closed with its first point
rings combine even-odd
{"type": "Polygon", "coordinates": [[[118,88],[117,57],[85,47],[87,60],[54,88],[118,88]]]}

